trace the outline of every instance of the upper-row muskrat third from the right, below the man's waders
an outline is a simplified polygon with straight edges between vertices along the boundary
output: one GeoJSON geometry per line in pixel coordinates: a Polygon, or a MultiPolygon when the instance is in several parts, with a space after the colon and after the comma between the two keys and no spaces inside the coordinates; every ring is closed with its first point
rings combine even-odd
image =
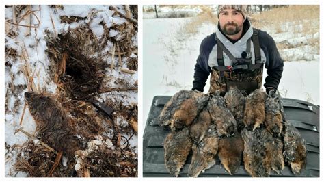
{"type": "Polygon", "coordinates": [[[235,120],[237,120],[237,130],[240,132],[243,127],[244,107],[245,107],[245,96],[240,92],[239,89],[231,87],[226,92],[224,99],[226,100],[226,107],[230,109],[235,120]]]}

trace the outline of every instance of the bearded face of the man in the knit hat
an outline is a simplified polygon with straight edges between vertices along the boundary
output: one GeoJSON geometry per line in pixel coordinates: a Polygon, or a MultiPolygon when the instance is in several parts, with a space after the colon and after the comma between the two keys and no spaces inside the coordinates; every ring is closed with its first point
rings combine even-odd
{"type": "Polygon", "coordinates": [[[219,14],[219,23],[221,25],[221,31],[226,35],[232,36],[243,27],[244,18],[241,12],[234,9],[225,9],[222,10],[219,14]]]}

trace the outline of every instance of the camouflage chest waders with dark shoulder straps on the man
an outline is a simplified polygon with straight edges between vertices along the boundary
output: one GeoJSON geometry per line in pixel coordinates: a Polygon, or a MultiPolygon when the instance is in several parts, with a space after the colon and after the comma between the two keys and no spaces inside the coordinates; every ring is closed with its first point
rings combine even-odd
{"type": "Polygon", "coordinates": [[[247,40],[246,53],[242,53],[242,58],[235,58],[218,38],[216,41],[218,66],[213,66],[209,92],[220,91],[224,95],[230,87],[235,86],[246,96],[261,88],[263,64],[258,32],[254,30],[252,38],[247,40]],[[252,64],[251,39],[254,44],[255,64],[252,64]],[[232,66],[224,66],[223,51],[232,61],[232,66]]]}

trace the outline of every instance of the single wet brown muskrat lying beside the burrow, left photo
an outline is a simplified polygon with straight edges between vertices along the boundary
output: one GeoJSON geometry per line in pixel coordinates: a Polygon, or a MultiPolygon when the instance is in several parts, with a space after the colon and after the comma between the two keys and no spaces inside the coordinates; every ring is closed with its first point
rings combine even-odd
{"type": "Polygon", "coordinates": [[[79,149],[74,132],[68,126],[70,118],[60,103],[50,94],[25,92],[29,112],[36,120],[38,137],[55,150],[74,156],[79,149]]]}

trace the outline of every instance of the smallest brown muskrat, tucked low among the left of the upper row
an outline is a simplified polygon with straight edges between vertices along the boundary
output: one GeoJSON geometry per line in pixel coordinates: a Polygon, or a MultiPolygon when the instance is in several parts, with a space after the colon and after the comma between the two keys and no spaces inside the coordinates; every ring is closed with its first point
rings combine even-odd
{"type": "Polygon", "coordinates": [[[204,138],[207,129],[211,125],[211,115],[207,109],[202,110],[190,127],[190,136],[195,144],[198,144],[204,138]]]}

